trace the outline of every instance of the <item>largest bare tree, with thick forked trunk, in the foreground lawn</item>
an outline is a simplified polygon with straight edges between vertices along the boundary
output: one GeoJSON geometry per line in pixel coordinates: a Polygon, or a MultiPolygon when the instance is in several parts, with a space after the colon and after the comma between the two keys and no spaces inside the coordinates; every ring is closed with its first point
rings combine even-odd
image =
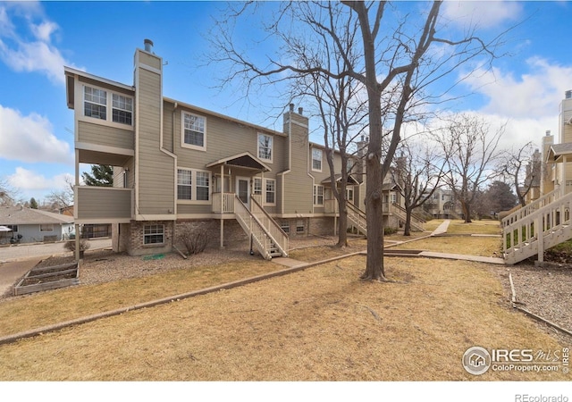
{"type": "MultiPolygon", "coordinates": [[[[275,16],[265,25],[267,38],[273,38],[280,45],[276,56],[266,55],[265,60],[257,56],[248,57],[248,52],[236,46],[232,38],[231,21],[245,15],[248,4],[232,10],[217,24],[218,32],[213,38],[211,58],[213,62],[230,65],[224,82],[240,79],[246,87],[258,84],[275,84],[283,80],[298,79],[300,76],[320,73],[332,80],[351,77],[366,88],[368,103],[369,144],[366,152],[366,216],[367,216],[367,259],[362,279],[385,280],[383,267],[383,178],[400,143],[400,130],[408,111],[423,99],[423,91],[432,89],[427,99],[439,99],[435,84],[442,77],[455,71],[461,64],[484,54],[490,60],[496,56],[494,48],[499,38],[489,42],[474,35],[470,29],[462,38],[441,38],[438,29],[447,35],[444,26],[438,26],[441,1],[428,5],[425,13],[415,10],[401,13],[403,4],[389,2],[291,2],[274,10],[275,16]],[[344,7],[345,5],[346,7],[344,7]],[[333,18],[335,16],[335,18],[333,18]],[[308,29],[308,27],[311,27],[308,29]],[[356,27],[360,42],[360,57],[354,61],[349,57],[346,32],[356,27]],[[316,34],[318,33],[318,34],[316,34]],[[326,40],[327,39],[327,40],[326,40]],[[323,63],[319,53],[313,52],[316,44],[332,46],[345,63],[336,65],[341,70],[329,70],[331,64],[323,63]],[[443,52],[429,52],[432,46],[449,47],[443,52]],[[308,54],[308,60],[317,54],[309,67],[299,63],[299,54],[308,54]],[[390,133],[387,147],[383,147],[384,134],[390,133]]],[[[258,3],[257,3],[258,6],[258,3]]],[[[260,46],[260,44],[258,44],[260,46]]],[[[446,91],[447,89],[445,89],[446,91]]],[[[428,103],[429,101],[427,101],[428,103]]]]}

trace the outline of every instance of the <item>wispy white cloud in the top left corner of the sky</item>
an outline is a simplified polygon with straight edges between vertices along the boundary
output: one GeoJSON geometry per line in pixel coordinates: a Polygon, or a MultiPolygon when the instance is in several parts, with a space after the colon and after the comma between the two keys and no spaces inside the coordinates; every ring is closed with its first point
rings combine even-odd
{"type": "Polygon", "coordinates": [[[0,3],[0,60],[13,71],[38,71],[63,85],[63,65],[72,63],[52,45],[52,36],[59,26],[46,19],[37,4],[27,3],[0,3]],[[21,23],[14,24],[16,20],[21,23]],[[16,26],[28,31],[20,32],[16,26]]]}

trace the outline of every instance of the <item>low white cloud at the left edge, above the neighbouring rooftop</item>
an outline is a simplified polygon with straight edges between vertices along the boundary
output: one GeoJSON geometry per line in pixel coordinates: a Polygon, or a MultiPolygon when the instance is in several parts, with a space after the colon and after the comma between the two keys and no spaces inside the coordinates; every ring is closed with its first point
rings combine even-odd
{"type": "Polygon", "coordinates": [[[27,116],[0,105],[0,157],[29,163],[73,163],[70,145],[55,137],[52,124],[37,113],[27,116]]]}

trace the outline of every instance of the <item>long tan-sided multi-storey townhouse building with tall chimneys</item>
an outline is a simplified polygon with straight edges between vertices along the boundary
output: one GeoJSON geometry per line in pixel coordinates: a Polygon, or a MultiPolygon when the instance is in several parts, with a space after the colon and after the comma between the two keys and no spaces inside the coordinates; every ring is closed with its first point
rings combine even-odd
{"type": "MultiPolygon", "coordinates": [[[[283,130],[269,130],[165,97],[148,40],[134,63],[133,85],[64,69],[76,180],[80,163],[114,166],[112,188],[76,181],[77,225],[112,223],[114,250],[130,255],[171,251],[187,226],[220,247],[251,239],[265,258],[287,255],[289,236],[335,232],[324,147],[309,141],[302,108],[290,105],[283,130]]],[[[338,154],[334,165],[340,172],[338,154]]],[[[352,179],[349,204],[364,209],[364,193],[352,179]]],[[[363,213],[350,209],[351,223],[363,213]]]]}

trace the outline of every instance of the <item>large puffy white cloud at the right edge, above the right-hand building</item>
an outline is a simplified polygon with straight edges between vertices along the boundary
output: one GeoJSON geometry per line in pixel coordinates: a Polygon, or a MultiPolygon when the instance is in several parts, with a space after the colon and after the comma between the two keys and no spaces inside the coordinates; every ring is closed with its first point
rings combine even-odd
{"type": "Polygon", "coordinates": [[[551,64],[539,57],[526,60],[526,73],[475,71],[465,80],[474,91],[488,99],[482,111],[511,118],[543,118],[558,114],[558,105],[569,89],[572,66],[551,64]]]}

